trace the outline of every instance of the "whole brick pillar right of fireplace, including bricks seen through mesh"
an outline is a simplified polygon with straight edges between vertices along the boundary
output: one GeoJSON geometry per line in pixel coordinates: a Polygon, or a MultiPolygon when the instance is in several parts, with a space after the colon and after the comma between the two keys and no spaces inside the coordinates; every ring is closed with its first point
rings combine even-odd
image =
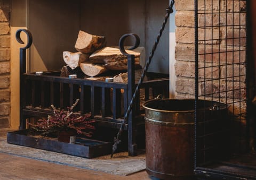
{"type": "MultiPolygon", "coordinates": [[[[194,1],[176,0],[175,8],[175,98],[195,98],[194,1]]],[[[231,127],[234,152],[243,151],[241,144],[246,142],[246,135],[241,135],[246,134],[246,14],[240,13],[245,8],[246,1],[198,0],[198,95],[227,102],[229,111],[240,115],[231,127]]]]}

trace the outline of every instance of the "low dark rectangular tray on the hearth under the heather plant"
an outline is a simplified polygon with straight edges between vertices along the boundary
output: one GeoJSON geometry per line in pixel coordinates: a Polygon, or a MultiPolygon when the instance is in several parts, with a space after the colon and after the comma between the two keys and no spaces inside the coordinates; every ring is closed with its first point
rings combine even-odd
{"type": "Polygon", "coordinates": [[[75,144],[59,142],[57,138],[42,138],[40,136],[28,135],[27,130],[7,133],[7,143],[23,145],[37,149],[44,149],[73,155],[83,158],[94,158],[111,153],[112,143],[77,138],[75,144]]]}

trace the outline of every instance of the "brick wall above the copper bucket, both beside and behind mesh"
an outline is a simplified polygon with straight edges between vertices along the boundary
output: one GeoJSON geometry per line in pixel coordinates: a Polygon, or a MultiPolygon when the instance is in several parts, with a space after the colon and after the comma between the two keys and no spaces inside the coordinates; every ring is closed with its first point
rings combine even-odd
{"type": "MultiPolygon", "coordinates": [[[[220,66],[220,67],[213,67],[213,68],[205,68],[205,72],[203,69],[198,70],[198,76],[200,78],[206,79],[214,79],[214,78],[225,78],[226,76],[232,76],[233,75],[233,68],[234,68],[234,76],[245,74],[245,65],[243,62],[245,61],[245,51],[241,51],[241,49],[245,48],[245,38],[244,39],[228,39],[223,40],[223,38],[237,38],[237,37],[245,37],[245,27],[242,27],[244,29],[238,29],[237,27],[228,27],[226,28],[211,28],[212,25],[219,25],[219,24],[228,24],[232,25],[233,21],[235,25],[245,24],[246,18],[245,13],[241,13],[239,16],[239,13],[245,10],[246,3],[245,1],[241,1],[239,5],[239,1],[220,1],[219,0],[213,0],[213,1],[203,1],[198,0],[198,11],[203,12],[204,9],[204,2],[206,3],[206,10],[213,9],[213,12],[236,12],[234,14],[234,20],[233,15],[228,14],[226,17],[225,15],[218,15],[218,13],[214,14],[213,16],[211,14],[206,14],[204,16],[203,14],[198,15],[198,26],[210,26],[210,28],[206,29],[198,29],[198,38],[199,39],[213,39],[210,41],[204,41],[199,42],[198,45],[198,52],[206,54],[209,53],[209,55],[205,56],[199,56],[198,66],[204,66],[204,63],[209,63],[209,66],[217,65],[218,63],[238,63],[238,65],[227,65],[227,66],[220,66]],[[227,4],[226,4],[227,2],[227,4]],[[234,2],[234,5],[233,5],[234,2]],[[234,6],[234,10],[233,10],[234,6]],[[206,21],[204,21],[206,19],[206,21]],[[240,19],[240,21],[239,21],[240,19]],[[205,22],[205,24],[204,24],[205,22]],[[212,24],[213,23],[213,24],[212,24]],[[234,28],[234,29],[233,29],[234,28]],[[219,31],[220,30],[220,31],[219,31]],[[219,37],[220,36],[220,37],[219,37]],[[219,40],[221,39],[222,40],[219,40]],[[237,52],[236,52],[237,50],[237,52]],[[220,54],[212,54],[212,52],[228,52],[229,53],[220,53],[220,54]],[[234,53],[232,52],[234,51],[234,53]],[[227,68],[227,71],[226,71],[227,68]],[[227,74],[226,74],[227,72],[227,74]],[[240,73],[240,74],[239,74],[240,73]]],[[[175,24],[177,26],[177,29],[175,31],[177,46],[175,47],[175,59],[177,60],[175,63],[175,74],[177,76],[177,81],[175,85],[175,97],[177,98],[194,98],[195,94],[195,84],[194,84],[194,77],[195,77],[195,23],[194,23],[194,1],[191,0],[177,0],[175,1],[175,8],[177,10],[177,13],[175,15],[175,24]]],[[[211,11],[209,11],[211,12],[211,11]]],[[[218,82],[217,82],[218,83],[218,82]]],[[[234,78],[232,80],[225,80],[222,84],[225,84],[225,86],[211,84],[209,82],[208,84],[198,84],[199,89],[198,93],[199,95],[202,95],[204,89],[207,92],[210,92],[213,88],[215,92],[218,91],[225,91],[225,90],[232,90],[232,88],[243,88],[245,87],[245,76],[240,76],[240,79],[234,78]],[[240,81],[240,83],[238,82],[240,81]],[[226,88],[227,84],[227,89],[226,88]],[[239,87],[239,85],[241,87],[239,87]],[[222,88],[222,89],[219,89],[222,88]]],[[[237,98],[237,99],[245,99],[246,93],[245,89],[242,89],[241,91],[229,92],[227,95],[227,101],[231,100],[231,98],[237,98]],[[241,95],[240,95],[241,92],[241,95]]],[[[219,96],[219,95],[218,95],[219,96]]],[[[226,101],[226,94],[222,95],[220,94],[222,101],[226,101]]],[[[244,107],[244,105],[242,105],[244,107]]],[[[234,109],[236,110],[236,108],[234,109]]],[[[245,110],[245,108],[244,108],[245,110]]]]}

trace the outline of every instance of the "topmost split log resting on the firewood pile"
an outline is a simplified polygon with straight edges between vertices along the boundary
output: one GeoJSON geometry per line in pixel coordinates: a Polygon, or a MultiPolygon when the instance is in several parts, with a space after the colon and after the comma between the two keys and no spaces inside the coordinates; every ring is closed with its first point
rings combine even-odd
{"type": "Polygon", "coordinates": [[[95,50],[106,46],[106,38],[104,36],[90,35],[84,31],[79,31],[75,48],[78,52],[90,54],[95,50]]]}

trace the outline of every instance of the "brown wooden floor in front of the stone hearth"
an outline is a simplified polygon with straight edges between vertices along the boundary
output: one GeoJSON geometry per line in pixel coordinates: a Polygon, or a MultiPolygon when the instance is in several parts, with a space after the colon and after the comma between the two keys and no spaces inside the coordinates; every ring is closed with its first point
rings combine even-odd
{"type": "Polygon", "coordinates": [[[146,170],[118,176],[0,153],[0,179],[154,179],[146,170]]]}

